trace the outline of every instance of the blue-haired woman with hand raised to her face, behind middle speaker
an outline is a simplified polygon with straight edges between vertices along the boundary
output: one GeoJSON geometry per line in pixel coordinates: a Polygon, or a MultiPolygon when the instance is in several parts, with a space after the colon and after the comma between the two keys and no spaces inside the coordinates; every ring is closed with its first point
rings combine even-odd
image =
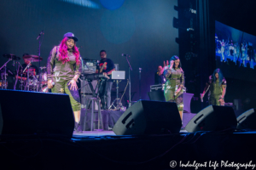
{"type": "Polygon", "coordinates": [[[170,59],[170,66],[166,66],[164,76],[166,84],[164,88],[165,98],[168,102],[175,102],[181,120],[183,120],[183,88],[184,72],[181,68],[180,59],[173,55],[170,59]]]}

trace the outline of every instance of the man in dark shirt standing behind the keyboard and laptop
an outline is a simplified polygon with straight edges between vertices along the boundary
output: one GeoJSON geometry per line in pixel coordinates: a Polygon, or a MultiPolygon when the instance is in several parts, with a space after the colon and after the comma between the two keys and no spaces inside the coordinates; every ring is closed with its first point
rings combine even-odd
{"type": "MultiPolygon", "coordinates": [[[[103,73],[104,76],[111,78],[112,71],[114,71],[113,61],[107,58],[107,53],[105,50],[100,52],[101,61],[96,68],[96,73],[103,73]]],[[[102,109],[108,110],[111,102],[111,88],[113,82],[102,80],[102,87],[99,89],[99,96],[101,98],[102,109]]]]}

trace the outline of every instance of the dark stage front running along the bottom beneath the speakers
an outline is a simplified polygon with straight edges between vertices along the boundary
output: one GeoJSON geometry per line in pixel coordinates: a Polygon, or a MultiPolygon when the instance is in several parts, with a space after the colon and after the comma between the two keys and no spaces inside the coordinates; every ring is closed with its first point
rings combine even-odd
{"type": "Polygon", "coordinates": [[[218,169],[223,161],[228,163],[226,166],[232,161],[251,161],[255,166],[256,161],[255,131],[182,131],[143,136],[84,131],[74,133],[72,139],[54,134],[0,138],[1,169],[196,169],[194,162],[207,162],[207,168],[198,169],[213,169],[210,164],[215,162],[218,169]],[[177,165],[173,167],[175,161],[177,165]],[[186,165],[189,167],[180,167],[186,165]]]}

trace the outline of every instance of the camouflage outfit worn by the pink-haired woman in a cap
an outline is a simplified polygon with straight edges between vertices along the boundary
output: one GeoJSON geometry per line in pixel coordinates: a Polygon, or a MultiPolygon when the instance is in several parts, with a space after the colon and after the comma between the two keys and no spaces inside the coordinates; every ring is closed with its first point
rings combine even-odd
{"type": "Polygon", "coordinates": [[[68,94],[73,111],[80,111],[81,103],[79,97],[79,90],[70,90],[70,86],[67,84],[73,79],[75,75],[81,74],[81,62],[80,65],[76,65],[76,57],[73,54],[73,50],[68,50],[69,61],[62,64],[59,60],[59,46],[51,50],[47,60],[47,79],[55,82],[54,88],[51,89],[52,93],[56,94],[68,94]]]}

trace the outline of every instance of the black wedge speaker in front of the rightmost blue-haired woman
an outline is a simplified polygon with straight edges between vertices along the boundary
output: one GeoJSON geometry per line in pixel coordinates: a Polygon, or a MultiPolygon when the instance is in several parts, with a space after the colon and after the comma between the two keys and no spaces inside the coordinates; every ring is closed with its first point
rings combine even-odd
{"type": "Polygon", "coordinates": [[[209,105],[189,121],[185,130],[189,133],[218,131],[230,127],[236,128],[236,124],[236,115],[232,107],[209,105]]]}

